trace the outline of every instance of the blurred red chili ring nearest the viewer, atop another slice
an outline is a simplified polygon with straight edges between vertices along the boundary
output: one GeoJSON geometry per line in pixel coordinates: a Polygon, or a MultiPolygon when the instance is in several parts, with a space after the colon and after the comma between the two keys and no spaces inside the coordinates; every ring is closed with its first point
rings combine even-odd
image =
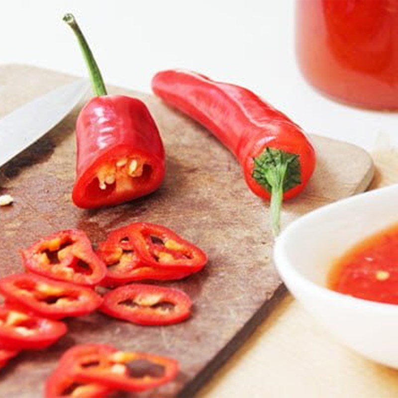
{"type": "Polygon", "coordinates": [[[83,344],[69,349],[61,358],[76,380],[100,383],[114,390],[140,392],[173,380],[178,362],[140,352],[123,352],[100,344],[83,344]]]}

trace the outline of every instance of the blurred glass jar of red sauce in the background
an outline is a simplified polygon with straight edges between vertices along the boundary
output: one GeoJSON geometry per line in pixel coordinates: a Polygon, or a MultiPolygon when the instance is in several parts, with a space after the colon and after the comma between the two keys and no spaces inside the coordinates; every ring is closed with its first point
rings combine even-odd
{"type": "Polygon", "coordinates": [[[398,109],[398,1],[297,0],[298,63],[322,93],[398,109]]]}

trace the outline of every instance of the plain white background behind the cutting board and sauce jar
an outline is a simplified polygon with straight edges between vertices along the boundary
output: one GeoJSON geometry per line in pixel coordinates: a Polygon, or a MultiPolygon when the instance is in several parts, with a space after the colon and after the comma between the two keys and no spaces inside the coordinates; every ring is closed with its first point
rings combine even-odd
{"type": "Polygon", "coordinates": [[[108,84],[148,92],[157,71],[188,68],[254,90],[309,132],[367,149],[379,133],[398,136],[398,113],[337,104],[303,81],[294,0],[0,0],[0,62],[84,76],[77,42],[62,21],[68,11],[108,84]]]}

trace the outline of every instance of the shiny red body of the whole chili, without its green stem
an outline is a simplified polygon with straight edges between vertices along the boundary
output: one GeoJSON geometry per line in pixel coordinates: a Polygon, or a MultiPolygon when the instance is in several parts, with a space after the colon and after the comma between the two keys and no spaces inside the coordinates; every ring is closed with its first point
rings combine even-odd
{"type": "Polygon", "coordinates": [[[252,177],[253,158],[266,147],[299,156],[301,182],[284,192],[284,199],[297,196],[312,176],[315,152],[302,129],[251,91],[181,70],[156,74],[152,90],[210,130],[235,155],[260,198],[270,199],[270,192],[252,177]]]}

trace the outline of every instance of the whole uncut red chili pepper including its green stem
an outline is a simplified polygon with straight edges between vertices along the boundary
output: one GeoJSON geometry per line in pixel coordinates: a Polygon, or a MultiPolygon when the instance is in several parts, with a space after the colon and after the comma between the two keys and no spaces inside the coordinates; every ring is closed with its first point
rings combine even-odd
{"type": "Polygon", "coordinates": [[[197,73],[160,72],[152,89],[208,128],[236,156],[253,193],[271,198],[278,234],[282,199],[298,195],[315,168],[315,152],[302,129],[251,91],[197,73]]]}

